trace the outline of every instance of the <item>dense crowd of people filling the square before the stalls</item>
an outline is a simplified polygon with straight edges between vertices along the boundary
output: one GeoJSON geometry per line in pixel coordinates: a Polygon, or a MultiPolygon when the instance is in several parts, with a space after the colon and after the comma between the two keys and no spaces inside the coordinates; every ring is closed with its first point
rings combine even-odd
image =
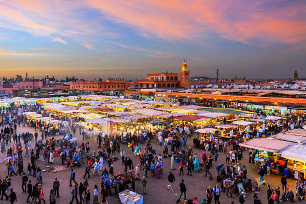
{"type": "MultiPolygon", "coordinates": [[[[258,114],[259,116],[262,113],[258,114]]],[[[223,122],[226,122],[223,121],[223,122]]],[[[286,129],[299,127],[305,122],[305,117],[303,115],[291,115],[288,117],[285,123],[280,123],[280,125],[269,124],[268,131],[278,132],[286,131],[286,129]]],[[[42,161],[45,164],[53,164],[55,154],[59,155],[61,159],[61,164],[70,169],[69,186],[71,186],[71,201],[74,200],[76,203],[99,203],[99,197],[102,203],[107,203],[107,196],[114,194],[118,196],[118,193],[126,188],[126,184],[130,183],[131,188],[135,190],[135,180],[141,180],[142,193],[147,194],[147,177],[150,172],[151,177],[163,178],[163,163],[164,159],[170,159],[170,169],[167,175],[168,188],[169,190],[174,190],[175,175],[177,176],[184,174],[184,169],[186,169],[186,175],[192,176],[194,172],[200,170],[205,171],[205,175],[209,175],[210,180],[213,179],[209,169],[216,168],[217,175],[215,175],[217,182],[215,186],[209,186],[205,191],[205,196],[203,196],[203,201],[201,203],[211,203],[212,199],[214,203],[220,203],[220,194],[225,190],[226,197],[232,197],[232,194],[239,196],[239,203],[244,202],[244,193],[237,187],[238,183],[242,183],[246,191],[252,190],[252,183],[250,179],[247,178],[247,170],[245,165],[241,165],[241,159],[243,154],[245,156],[245,148],[239,146],[240,142],[246,141],[253,137],[260,137],[260,134],[256,132],[255,129],[249,129],[248,131],[242,131],[241,129],[232,128],[229,131],[230,134],[237,135],[230,142],[232,147],[227,140],[222,140],[216,135],[209,135],[203,138],[202,135],[197,135],[198,137],[193,137],[195,135],[194,130],[199,128],[195,125],[187,124],[177,124],[171,125],[170,127],[160,128],[160,129],[142,129],[141,131],[127,133],[127,134],[115,134],[107,135],[101,132],[95,132],[93,128],[84,128],[76,117],[58,115],[54,112],[47,111],[43,109],[39,104],[33,105],[21,105],[16,107],[14,105],[4,109],[0,113],[0,129],[1,129],[1,152],[5,153],[5,166],[7,167],[7,175],[4,179],[0,180],[1,198],[10,199],[13,203],[17,200],[16,193],[13,191],[10,180],[13,176],[20,177],[22,192],[27,193],[27,202],[38,202],[43,201],[45,203],[45,195],[43,193],[43,179],[41,166],[37,166],[37,161],[40,159],[42,154],[42,161]],[[56,141],[54,139],[55,132],[52,132],[52,126],[48,123],[41,122],[39,120],[34,120],[28,118],[22,111],[35,111],[40,112],[44,116],[51,116],[56,119],[63,121],[68,121],[69,125],[64,126],[64,132],[67,138],[63,141],[56,141]],[[17,133],[17,128],[19,126],[33,127],[34,132],[23,132],[17,133]],[[79,135],[82,139],[79,145],[75,141],[70,141],[72,135],[75,135],[76,129],[79,128],[79,135]],[[39,132],[40,131],[40,132],[39,132]],[[38,138],[38,132],[41,139],[38,138]],[[73,134],[72,134],[73,133],[73,134]],[[156,135],[159,145],[163,145],[162,152],[156,152],[152,140],[155,139],[153,135],[156,135]],[[75,181],[75,171],[73,168],[79,167],[81,165],[81,156],[90,153],[90,143],[91,137],[96,136],[96,143],[98,148],[105,148],[106,152],[104,154],[95,154],[92,157],[84,158],[84,181],[75,181]],[[51,137],[51,138],[50,138],[51,137]],[[171,138],[171,142],[167,142],[165,139],[171,138]],[[193,137],[193,138],[191,138],[193,137]],[[201,138],[201,139],[199,139],[201,138]],[[45,139],[45,141],[44,141],[45,139]],[[125,151],[120,148],[120,141],[125,140],[130,146],[130,150],[135,155],[135,158],[125,156],[125,151]],[[186,147],[188,139],[193,139],[193,147],[186,147]],[[21,143],[21,141],[23,142],[21,143]],[[137,143],[139,141],[139,143],[137,143]],[[141,149],[140,144],[144,144],[143,149],[141,149]],[[194,153],[192,148],[200,148],[203,153],[200,157],[197,153],[194,153]],[[86,153],[85,153],[86,150],[86,153]],[[114,169],[112,162],[116,160],[117,155],[121,157],[121,163],[124,172],[119,174],[120,169],[114,169]],[[225,157],[225,163],[218,161],[219,153],[225,157]],[[24,172],[23,159],[29,157],[29,161],[26,164],[26,171],[24,172]],[[139,159],[139,160],[138,160],[139,159]],[[139,164],[134,165],[134,163],[139,162],[139,164]],[[177,163],[177,164],[176,164],[177,163]],[[15,168],[17,170],[15,170],[15,168]],[[177,169],[177,171],[175,171],[177,169]],[[143,173],[141,173],[143,171],[143,173]],[[134,173],[133,173],[134,172],[134,173]],[[88,185],[88,178],[91,176],[100,175],[100,196],[98,193],[98,186],[93,186],[93,192],[90,193],[90,186],[88,185]],[[86,178],[87,176],[87,178],[86,178]],[[224,182],[225,181],[225,182],[224,182]],[[73,185],[72,185],[73,184],[73,185]]],[[[158,144],[157,144],[158,145],[158,144]]],[[[156,146],[155,146],[156,147],[156,146]]],[[[253,158],[256,154],[255,149],[246,150],[249,156],[249,162],[254,162],[253,158]]],[[[41,162],[40,162],[41,165],[41,162]]],[[[265,173],[268,173],[268,163],[262,165],[258,174],[263,177],[265,173]],[[262,173],[263,172],[263,173],[262,173]]],[[[282,193],[280,193],[279,187],[273,189],[268,186],[267,191],[267,201],[268,203],[275,203],[279,200],[293,200],[294,195],[291,189],[286,187],[286,181],[282,177],[282,193]],[[270,201],[272,200],[272,201],[270,201]]],[[[182,194],[184,194],[184,203],[199,203],[196,197],[190,197],[187,199],[187,188],[184,184],[184,179],[180,179],[179,183],[179,197],[177,198],[177,203],[180,203],[182,194]]],[[[298,200],[304,199],[305,186],[303,180],[298,180],[296,183],[296,194],[295,196],[298,200]]],[[[52,189],[47,189],[49,191],[49,202],[55,203],[56,198],[59,197],[59,187],[60,182],[57,177],[54,178],[52,189]]],[[[92,187],[92,186],[91,186],[92,187]]],[[[254,194],[254,203],[260,203],[258,196],[254,194]]],[[[232,202],[233,203],[233,202],[232,202]]]]}

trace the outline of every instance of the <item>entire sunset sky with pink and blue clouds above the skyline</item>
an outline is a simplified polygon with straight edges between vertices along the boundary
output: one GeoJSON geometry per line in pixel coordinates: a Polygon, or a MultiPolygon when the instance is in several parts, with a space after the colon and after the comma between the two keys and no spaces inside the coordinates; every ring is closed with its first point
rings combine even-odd
{"type": "Polygon", "coordinates": [[[306,77],[305,0],[0,0],[0,77],[306,77]]]}

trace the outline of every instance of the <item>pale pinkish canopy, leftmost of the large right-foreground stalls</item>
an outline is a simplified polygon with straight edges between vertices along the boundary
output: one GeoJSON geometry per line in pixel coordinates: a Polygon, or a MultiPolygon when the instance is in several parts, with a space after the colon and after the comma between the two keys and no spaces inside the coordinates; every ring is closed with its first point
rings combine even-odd
{"type": "Polygon", "coordinates": [[[239,143],[240,146],[270,151],[274,153],[284,150],[285,148],[287,148],[292,144],[294,143],[289,141],[281,141],[269,138],[253,138],[245,142],[239,143]]]}

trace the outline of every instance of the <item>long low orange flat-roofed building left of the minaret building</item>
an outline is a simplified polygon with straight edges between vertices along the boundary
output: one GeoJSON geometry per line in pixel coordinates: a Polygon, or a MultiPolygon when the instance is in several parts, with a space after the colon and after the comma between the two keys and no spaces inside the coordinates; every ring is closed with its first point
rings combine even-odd
{"type": "Polygon", "coordinates": [[[126,90],[129,86],[127,80],[106,80],[106,81],[83,81],[70,82],[71,90],[107,91],[126,90]]]}

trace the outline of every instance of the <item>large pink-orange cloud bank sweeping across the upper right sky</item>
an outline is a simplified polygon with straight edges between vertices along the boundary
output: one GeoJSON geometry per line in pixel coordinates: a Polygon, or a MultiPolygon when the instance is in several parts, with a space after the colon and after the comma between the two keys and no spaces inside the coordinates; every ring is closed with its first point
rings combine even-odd
{"type": "MultiPolygon", "coordinates": [[[[110,20],[165,39],[200,38],[207,33],[249,43],[295,43],[306,38],[305,5],[271,6],[275,1],[88,0],[110,20]],[[271,5],[266,5],[266,4],[271,5]],[[269,7],[270,6],[270,7],[269,7]]],[[[145,35],[142,34],[145,37],[145,35]]]]}

